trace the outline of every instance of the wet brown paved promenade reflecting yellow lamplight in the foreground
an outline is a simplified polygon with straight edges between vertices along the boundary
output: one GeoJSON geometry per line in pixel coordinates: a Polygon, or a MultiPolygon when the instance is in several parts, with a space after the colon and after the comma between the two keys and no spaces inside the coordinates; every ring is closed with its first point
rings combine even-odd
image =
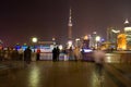
{"type": "Polygon", "coordinates": [[[99,79],[90,62],[22,64],[0,71],[0,87],[131,87],[131,64],[108,63],[99,79]]]}

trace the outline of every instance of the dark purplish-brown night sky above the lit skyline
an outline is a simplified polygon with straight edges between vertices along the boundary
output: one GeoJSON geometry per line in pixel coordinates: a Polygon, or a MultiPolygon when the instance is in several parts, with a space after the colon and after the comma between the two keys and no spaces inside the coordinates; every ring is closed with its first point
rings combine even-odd
{"type": "Polygon", "coordinates": [[[28,44],[29,38],[60,42],[68,38],[69,9],[73,37],[97,32],[106,38],[107,27],[123,29],[131,21],[131,0],[3,0],[0,1],[0,39],[4,46],[28,44]]]}

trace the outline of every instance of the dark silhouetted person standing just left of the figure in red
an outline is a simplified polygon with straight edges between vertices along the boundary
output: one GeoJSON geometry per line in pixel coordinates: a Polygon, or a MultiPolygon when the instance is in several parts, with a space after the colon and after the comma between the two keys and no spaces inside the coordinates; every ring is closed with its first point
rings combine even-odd
{"type": "Polygon", "coordinates": [[[24,51],[24,61],[29,64],[31,63],[31,57],[32,57],[32,50],[29,47],[27,47],[24,51]]]}

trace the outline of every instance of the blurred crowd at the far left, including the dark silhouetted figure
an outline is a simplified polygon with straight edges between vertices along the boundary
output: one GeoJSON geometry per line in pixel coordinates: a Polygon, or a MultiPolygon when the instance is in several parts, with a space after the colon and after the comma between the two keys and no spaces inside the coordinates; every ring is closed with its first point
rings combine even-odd
{"type": "Polygon", "coordinates": [[[32,61],[32,58],[39,59],[39,52],[34,57],[35,51],[32,51],[29,47],[25,50],[22,48],[16,50],[15,48],[0,49],[0,61],[32,61]]]}

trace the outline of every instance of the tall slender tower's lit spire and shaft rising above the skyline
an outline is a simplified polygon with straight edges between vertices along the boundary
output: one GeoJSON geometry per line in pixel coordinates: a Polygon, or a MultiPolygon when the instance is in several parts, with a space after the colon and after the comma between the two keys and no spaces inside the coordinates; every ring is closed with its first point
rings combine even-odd
{"type": "Polygon", "coordinates": [[[70,16],[69,16],[69,33],[68,33],[68,38],[69,40],[72,40],[72,10],[70,8],[70,16]]]}

